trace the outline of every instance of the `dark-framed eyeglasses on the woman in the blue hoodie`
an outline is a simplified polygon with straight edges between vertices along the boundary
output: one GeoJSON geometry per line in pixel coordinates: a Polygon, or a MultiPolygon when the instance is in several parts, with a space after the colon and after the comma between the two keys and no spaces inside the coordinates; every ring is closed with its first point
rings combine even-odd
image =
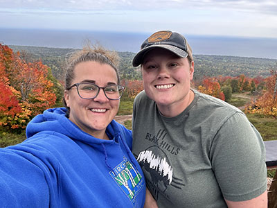
{"type": "Polygon", "coordinates": [[[99,87],[91,83],[75,83],[72,87],[77,88],[78,95],[83,99],[93,99],[98,96],[100,89],[103,89],[105,96],[109,100],[119,100],[123,94],[124,87],[121,85],[107,85],[106,87],[99,87]]]}

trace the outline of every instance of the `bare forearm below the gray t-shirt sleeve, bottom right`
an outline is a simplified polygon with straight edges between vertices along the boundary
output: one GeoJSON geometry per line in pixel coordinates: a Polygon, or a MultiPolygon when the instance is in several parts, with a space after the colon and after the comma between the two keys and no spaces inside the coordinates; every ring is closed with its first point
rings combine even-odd
{"type": "Polygon", "coordinates": [[[262,193],[260,196],[251,200],[242,202],[232,202],[225,200],[229,208],[266,208],[267,207],[267,191],[262,193]]]}

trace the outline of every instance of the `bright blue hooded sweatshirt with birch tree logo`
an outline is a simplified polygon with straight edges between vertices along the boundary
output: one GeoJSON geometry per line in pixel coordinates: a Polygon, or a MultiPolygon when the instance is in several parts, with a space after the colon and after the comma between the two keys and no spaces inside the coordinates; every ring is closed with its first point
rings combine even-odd
{"type": "Polygon", "coordinates": [[[116,121],[106,132],[110,140],[88,135],[65,108],[36,116],[24,142],[0,148],[0,207],[143,207],[132,132],[116,121]]]}

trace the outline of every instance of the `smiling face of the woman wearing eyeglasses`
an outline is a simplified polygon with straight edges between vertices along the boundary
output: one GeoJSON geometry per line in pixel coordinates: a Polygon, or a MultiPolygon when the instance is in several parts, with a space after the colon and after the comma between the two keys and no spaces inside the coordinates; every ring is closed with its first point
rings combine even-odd
{"type": "MultiPolygon", "coordinates": [[[[72,85],[75,83],[93,83],[99,87],[117,85],[116,71],[109,64],[88,61],[75,66],[72,85]]],[[[77,88],[64,92],[67,107],[70,108],[69,119],[78,127],[94,137],[105,134],[107,125],[118,112],[119,100],[109,100],[103,89],[96,98],[80,98],[77,88]]],[[[100,138],[102,139],[102,138],[100,138]]]]}

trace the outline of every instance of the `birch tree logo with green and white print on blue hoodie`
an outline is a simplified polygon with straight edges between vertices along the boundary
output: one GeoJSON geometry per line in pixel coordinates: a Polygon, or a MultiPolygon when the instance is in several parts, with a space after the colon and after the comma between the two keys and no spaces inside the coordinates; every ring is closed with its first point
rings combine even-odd
{"type": "Polygon", "coordinates": [[[134,205],[136,202],[135,196],[141,191],[145,183],[139,171],[136,170],[136,167],[124,157],[123,162],[118,164],[109,174],[127,194],[134,205]]]}

